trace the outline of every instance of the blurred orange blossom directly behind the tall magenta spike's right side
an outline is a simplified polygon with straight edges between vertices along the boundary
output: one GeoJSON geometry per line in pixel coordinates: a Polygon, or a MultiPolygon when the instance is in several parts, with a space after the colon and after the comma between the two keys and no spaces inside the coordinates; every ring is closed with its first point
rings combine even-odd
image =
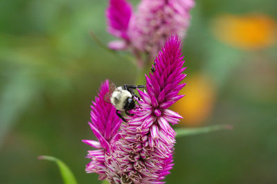
{"type": "Polygon", "coordinates": [[[211,81],[203,74],[188,75],[184,80],[187,85],[179,94],[186,96],[172,105],[172,109],[184,117],[181,125],[200,125],[211,114],[215,102],[215,86],[211,81]]]}

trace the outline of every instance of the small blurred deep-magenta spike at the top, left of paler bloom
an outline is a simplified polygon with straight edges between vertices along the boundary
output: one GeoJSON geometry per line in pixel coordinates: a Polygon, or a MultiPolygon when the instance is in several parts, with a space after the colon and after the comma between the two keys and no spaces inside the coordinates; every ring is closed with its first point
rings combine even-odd
{"type": "Polygon", "coordinates": [[[108,32],[123,41],[113,41],[109,43],[112,49],[123,49],[127,46],[129,36],[129,20],[132,16],[132,6],[125,0],[110,0],[106,10],[108,21],[108,32]]]}

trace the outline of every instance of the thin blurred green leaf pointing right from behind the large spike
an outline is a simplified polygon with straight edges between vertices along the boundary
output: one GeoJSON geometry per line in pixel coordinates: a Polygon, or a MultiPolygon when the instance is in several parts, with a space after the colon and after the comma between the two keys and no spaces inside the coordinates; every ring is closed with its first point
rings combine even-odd
{"type": "Polygon", "coordinates": [[[197,134],[205,134],[209,133],[211,131],[217,131],[217,130],[222,130],[222,129],[233,129],[231,125],[212,125],[208,127],[199,127],[199,128],[180,128],[180,129],[175,129],[177,132],[177,138],[183,137],[183,136],[193,136],[197,134]]]}

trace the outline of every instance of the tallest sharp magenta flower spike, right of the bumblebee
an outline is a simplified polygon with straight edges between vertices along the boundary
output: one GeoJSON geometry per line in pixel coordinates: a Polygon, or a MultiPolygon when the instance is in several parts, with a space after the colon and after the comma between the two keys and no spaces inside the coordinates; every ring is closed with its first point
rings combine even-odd
{"type": "Polygon", "coordinates": [[[186,84],[179,84],[183,74],[181,41],[170,37],[155,59],[156,71],[146,75],[147,91],[139,91],[142,101],[127,118],[115,142],[110,183],[164,183],[172,169],[175,131],[170,127],[179,121],[178,113],[168,109],[184,95],[177,95],[186,84]],[[115,166],[116,165],[116,166],[115,166]]]}

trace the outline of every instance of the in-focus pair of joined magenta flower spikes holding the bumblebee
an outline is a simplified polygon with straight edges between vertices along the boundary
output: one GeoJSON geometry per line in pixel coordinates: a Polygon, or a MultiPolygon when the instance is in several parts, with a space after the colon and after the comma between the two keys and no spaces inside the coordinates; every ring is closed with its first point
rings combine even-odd
{"type": "Polygon", "coordinates": [[[170,174],[176,136],[170,123],[176,124],[181,116],[168,107],[184,96],[178,92],[186,85],[179,84],[186,77],[180,39],[167,39],[154,62],[156,71],[145,75],[146,91],[138,90],[140,105],[119,131],[116,109],[104,100],[108,81],[93,102],[89,125],[99,141],[83,141],[98,149],[89,151],[91,163],[86,171],[100,174],[99,179],[106,178],[109,183],[164,183],[162,180],[170,174]]]}

